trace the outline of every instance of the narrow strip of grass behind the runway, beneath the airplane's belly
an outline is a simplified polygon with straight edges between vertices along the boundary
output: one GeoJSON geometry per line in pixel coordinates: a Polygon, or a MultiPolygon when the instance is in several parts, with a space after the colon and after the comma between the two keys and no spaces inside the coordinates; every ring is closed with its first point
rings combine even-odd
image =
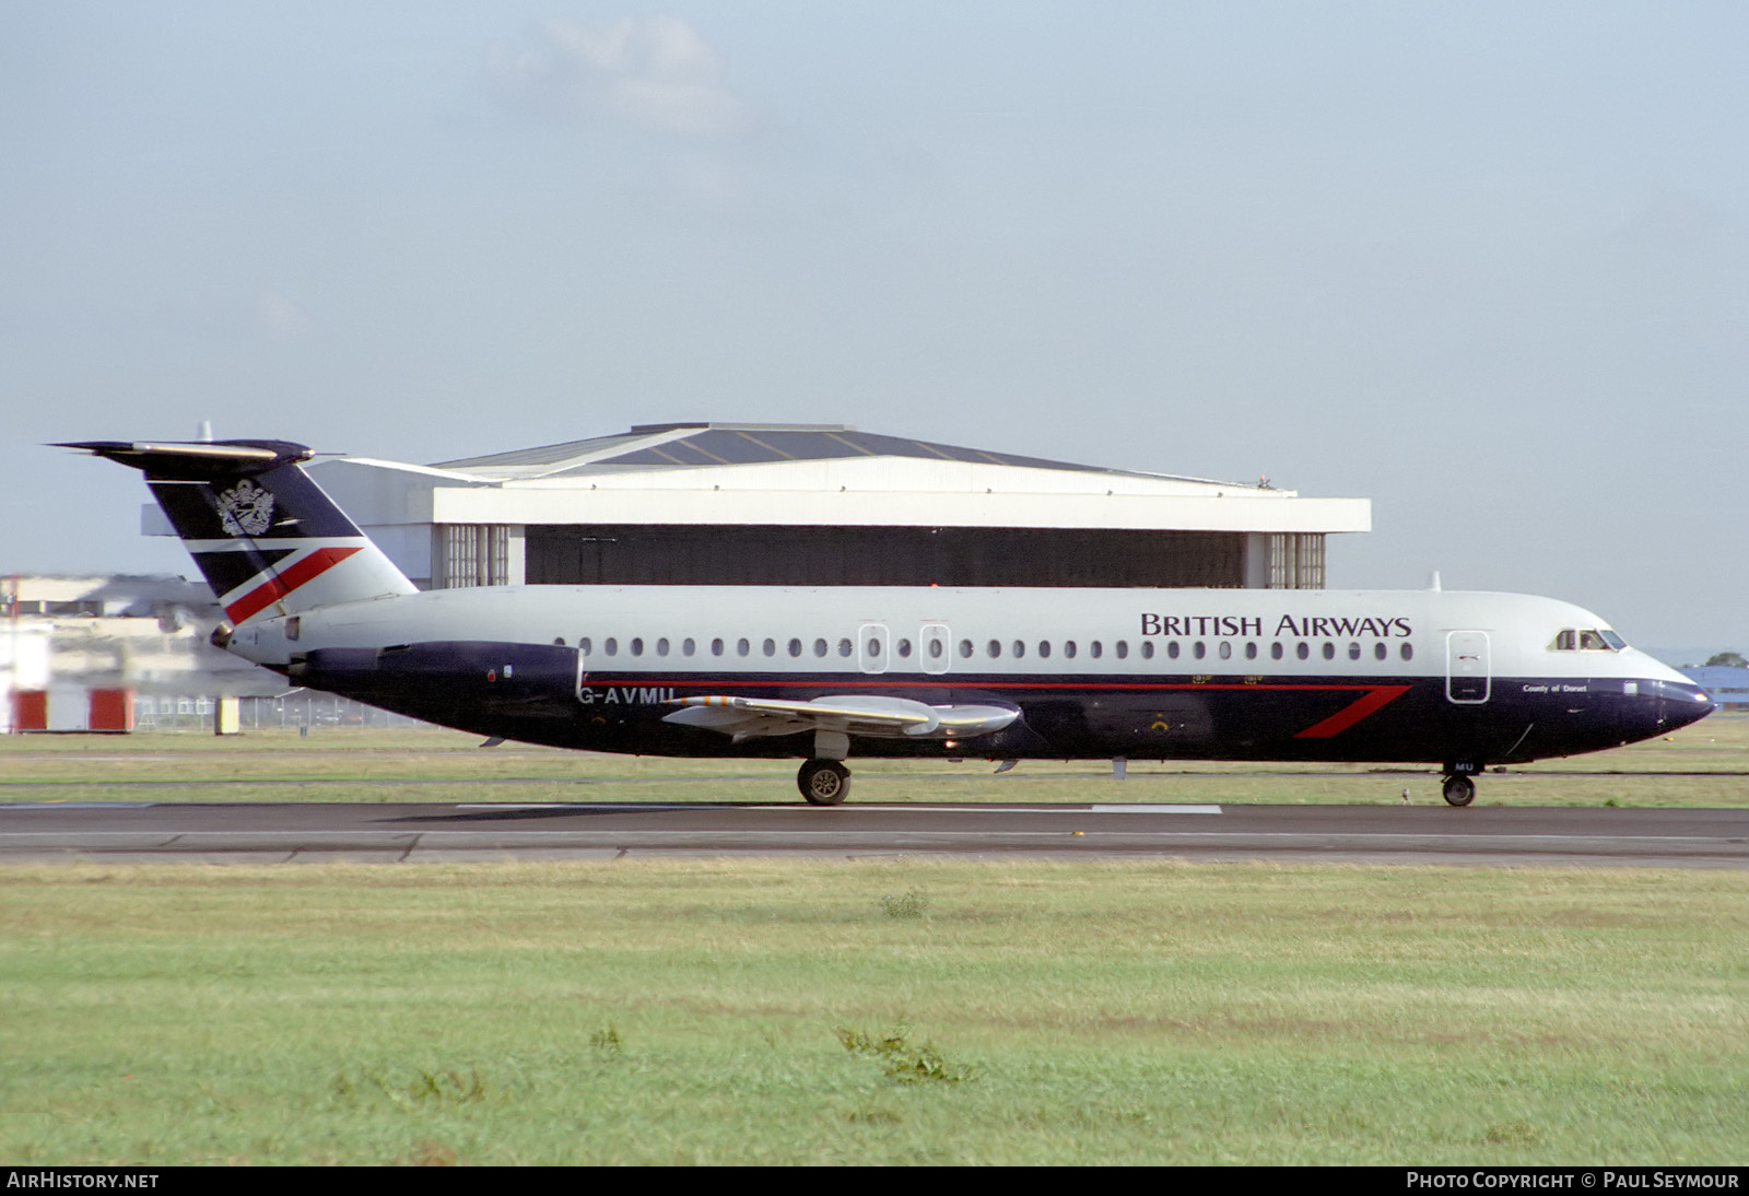
{"type": "MultiPolygon", "coordinates": [[[[1224,801],[1438,804],[1431,768],[852,761],[852,801],[1224,801]]],[[[437,729],[0,736],[0,801],[796,801],[796,761],[673,761],[437,729]]],[[[1749,806],[1749,717],[1712,715],[1613,752],[1488,773],[1478,804],[1749,806]]]]}

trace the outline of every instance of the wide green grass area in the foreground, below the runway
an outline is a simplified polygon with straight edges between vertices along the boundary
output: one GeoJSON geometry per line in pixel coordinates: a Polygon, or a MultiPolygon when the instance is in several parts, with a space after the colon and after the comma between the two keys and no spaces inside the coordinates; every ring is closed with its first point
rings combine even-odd
{"type": "Polygon", "coordinates": [[[1735,871],[10,867],[0,1004],[14,1165],[1749,1152],[1735,871]]]}

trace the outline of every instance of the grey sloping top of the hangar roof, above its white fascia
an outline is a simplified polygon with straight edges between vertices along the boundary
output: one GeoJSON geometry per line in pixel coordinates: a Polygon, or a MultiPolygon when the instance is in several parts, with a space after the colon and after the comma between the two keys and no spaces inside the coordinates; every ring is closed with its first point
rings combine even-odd
{"type": "MultiPolygon", "coordinates": [[[[859,432],[847,423],[642,423],[630,432],[567,441],[540,448],[439,462],[436,469],[474,477],[535,479],[581,477],[623,470],[700,469],[714,465],[763,465],[778,462],[824,462],[834,458],[909,456],[925,462],[969,465],[1020,465],[1119,477],[1167,477],[1133,470],[1070,465],[1039,456],[1016,456],[988,449],[936,444],[902,435],[859,432]]],[[[1175,477],[1175,481],[1202,481],[1175,477]]],[[[1231,486],[1231,483],[1226,483],[1231,486]]]]}

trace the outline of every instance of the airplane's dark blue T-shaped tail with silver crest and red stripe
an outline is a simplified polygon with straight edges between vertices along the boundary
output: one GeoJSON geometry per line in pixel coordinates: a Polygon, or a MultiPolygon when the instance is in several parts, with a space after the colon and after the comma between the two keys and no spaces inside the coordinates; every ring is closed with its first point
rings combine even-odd
{"type": "Polygon", "coordinates": [[[86,441],[56,448],[142,470],[233,624],[415,593],[394,561],[299,469],[313,456],[303,444],[86,441]]]}

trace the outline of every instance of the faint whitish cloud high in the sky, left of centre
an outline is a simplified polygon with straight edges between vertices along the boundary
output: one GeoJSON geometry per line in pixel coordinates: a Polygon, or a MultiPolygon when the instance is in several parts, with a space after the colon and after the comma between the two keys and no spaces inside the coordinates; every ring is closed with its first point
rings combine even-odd
{"type": "Polygon", "coordinates": [[[567,117],[607,115],[682,138],[726,138],[745,105],[724,82],[722,56],[672,16],[570,21],[539,30],[539,45],[495,45],[486,75],[504,93],[567,117]]]}

